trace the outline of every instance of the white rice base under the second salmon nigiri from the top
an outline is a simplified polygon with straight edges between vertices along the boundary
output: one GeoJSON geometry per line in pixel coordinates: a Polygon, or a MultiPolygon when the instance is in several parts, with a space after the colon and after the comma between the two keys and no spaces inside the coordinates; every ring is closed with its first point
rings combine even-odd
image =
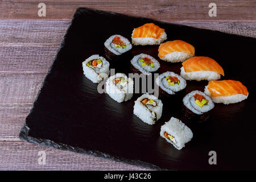
{"type": "Polygon", "coordinates": [[[175,52],[168,53],[167,55],[164,55],[163,57],[159,57],[159,58],[167,62],[177,63],[177,62],[183,62],[191,57],[193,57],[191,53],[175,51],[175,52]]]}

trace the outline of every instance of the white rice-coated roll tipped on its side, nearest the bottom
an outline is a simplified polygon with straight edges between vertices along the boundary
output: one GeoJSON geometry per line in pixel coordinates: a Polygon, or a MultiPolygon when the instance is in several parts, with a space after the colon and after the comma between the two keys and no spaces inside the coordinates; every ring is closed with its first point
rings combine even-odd
{"type": "Polygon", "coordinates": [[[180,150],[192,139],[193,133],[183,122],[172,117],[170,121],[161,126],[160,136],[180,150]]]}

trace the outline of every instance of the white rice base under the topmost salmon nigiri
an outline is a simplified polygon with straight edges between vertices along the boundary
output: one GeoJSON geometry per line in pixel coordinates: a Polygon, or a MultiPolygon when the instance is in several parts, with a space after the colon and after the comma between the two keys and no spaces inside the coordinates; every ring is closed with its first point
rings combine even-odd
{"type": "MultiPolygon", "coordinates": [[[[134,30],[133,30],[134,32],[134,30]]],[[[163,32],[163,34],[158,38],[133,38],[133,34],[131,34],[131,43],[133,43],[135,46],[137,45],[159,45],[162,43],[164,40],[167,39],[167,34],[166,32],[163,32]]]]}

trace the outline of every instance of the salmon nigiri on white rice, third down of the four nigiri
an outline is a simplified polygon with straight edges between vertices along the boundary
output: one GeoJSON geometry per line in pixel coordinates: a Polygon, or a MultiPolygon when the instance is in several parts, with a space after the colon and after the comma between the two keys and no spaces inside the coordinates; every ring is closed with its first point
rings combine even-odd
{"type": "Polygon", "coordinates": [[[218,80],[224,76],[222,67],[212,58],[195,56],[184,61],[180,75],[186,80],[218,80]]]}

